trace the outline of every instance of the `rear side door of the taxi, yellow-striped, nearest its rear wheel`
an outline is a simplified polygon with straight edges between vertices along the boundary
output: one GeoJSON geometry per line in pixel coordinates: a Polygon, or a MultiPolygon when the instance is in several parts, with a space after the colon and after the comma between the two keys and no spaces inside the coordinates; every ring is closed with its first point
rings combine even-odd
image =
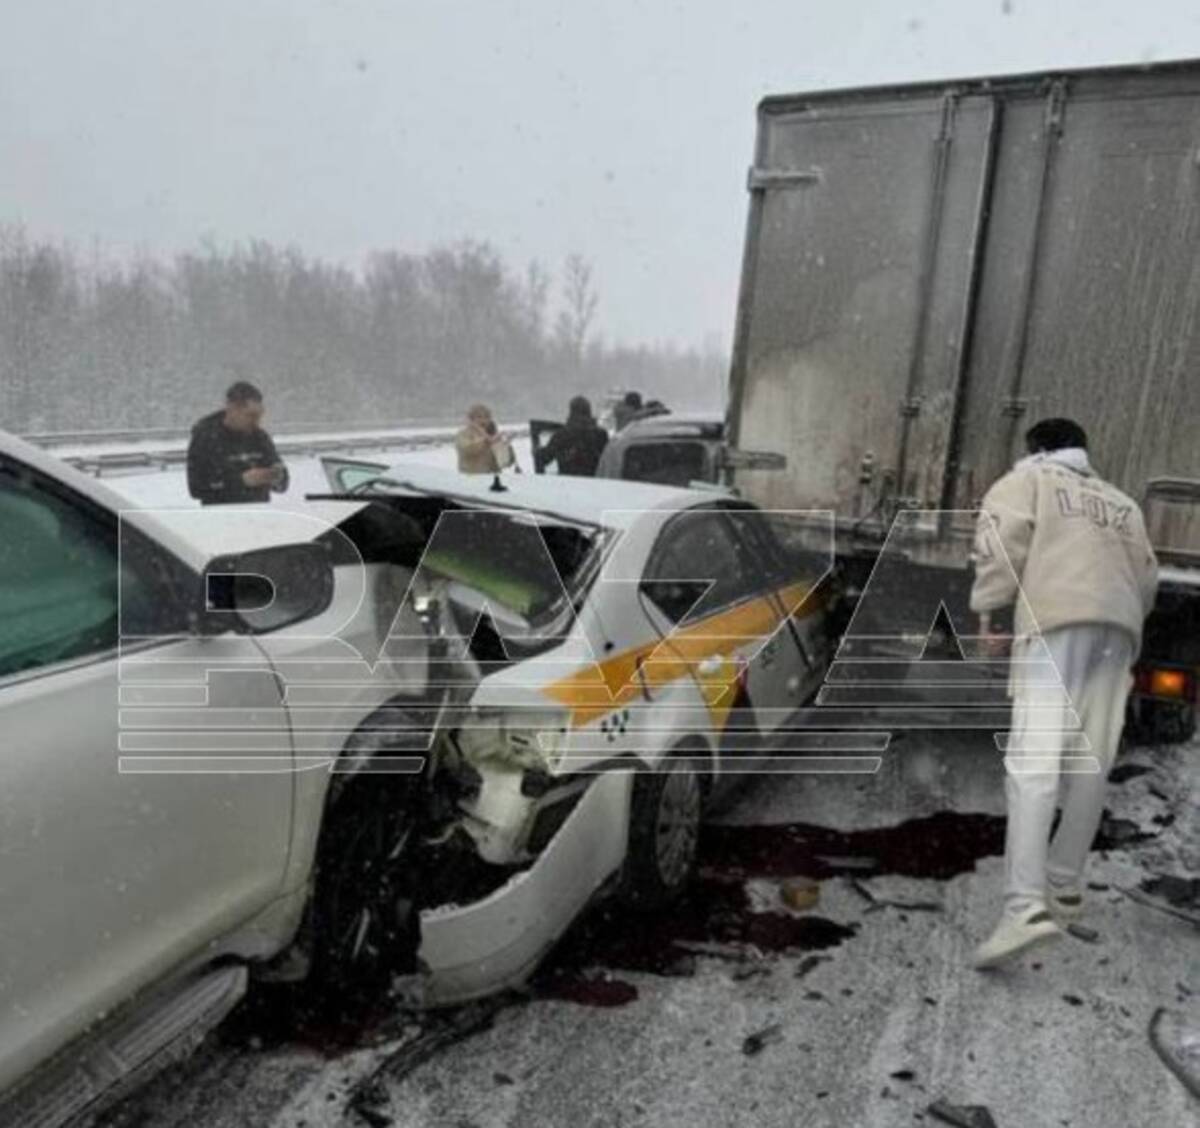
{"type": "Polygon", "coordinates": [[[721,508],[684,510],[660,534],[643,581],[655,625],[670,634],[694,676],[731,689],[725,710],[740,702],[744,712],[732,720],[713,710],[719,727],[742,731],[737,751],[752,750],[752,733],[769,734],[794,708],[796,643],[757,551],[721,508]]]}

